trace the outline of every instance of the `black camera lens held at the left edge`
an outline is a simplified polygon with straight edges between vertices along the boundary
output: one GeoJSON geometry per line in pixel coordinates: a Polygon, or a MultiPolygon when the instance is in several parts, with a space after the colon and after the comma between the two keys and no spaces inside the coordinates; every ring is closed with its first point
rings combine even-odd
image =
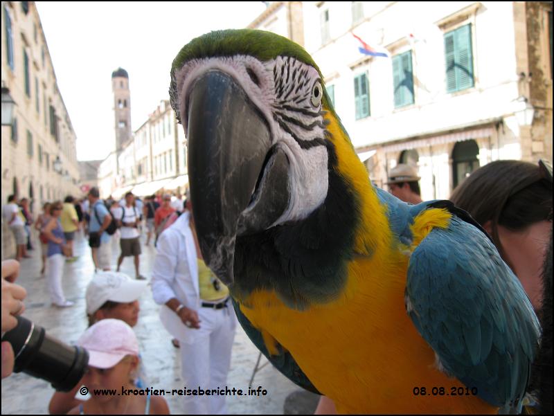
{"type": "Polygon", "coordinates": [[[56,390],[69,392],[82,379],[89,353],[46,335],[43,327],[17,316],[17,327],[6,332],[2,341],[12,344],[14,372],[44,379],[56,390]]]}

